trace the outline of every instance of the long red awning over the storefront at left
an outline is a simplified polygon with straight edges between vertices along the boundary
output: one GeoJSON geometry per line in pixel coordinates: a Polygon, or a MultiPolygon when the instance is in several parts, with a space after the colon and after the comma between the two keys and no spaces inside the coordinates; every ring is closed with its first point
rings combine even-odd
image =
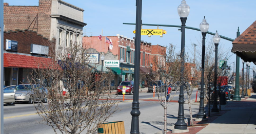
{"type": "Polygon", "coordinates": [[[60,66],[58,66],[57,63],[50,58],[11,54],[11,53],[4,53],[4,67],[30,68],[30,69],[60,68],[60,66]]]}

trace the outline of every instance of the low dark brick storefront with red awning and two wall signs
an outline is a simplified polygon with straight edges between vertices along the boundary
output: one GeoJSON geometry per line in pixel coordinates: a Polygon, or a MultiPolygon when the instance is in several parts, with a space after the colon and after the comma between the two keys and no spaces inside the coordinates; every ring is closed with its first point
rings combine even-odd
{"type": "Polygon", "coordinates": [[[28,83],[33,68],[43,68],[50,61],[50,44],[54,41],[38,35],[35,31],[4,31],[4,84],[28,83]]]}

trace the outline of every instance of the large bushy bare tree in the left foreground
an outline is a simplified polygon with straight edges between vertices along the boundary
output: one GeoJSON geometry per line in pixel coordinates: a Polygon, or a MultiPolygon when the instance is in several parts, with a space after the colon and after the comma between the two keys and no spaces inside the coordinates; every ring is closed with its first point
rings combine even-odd
{"type": "Polygon", "coordinates": [[[70,43],[68,48],[64,46],[65,51],[53,46],[49,47],[51,61],[37,61],[38,69],[33,70],[35,75],[30,81],[44,85],[48,91],[43,97],[40,90],[32,96],[38,101],[48,99],[48,105],[43,101],[33,103],[37,114],[55,133],[94,133],[117,110],[110,94],[114,75],[91,68],[87,60],[90,54],[81,44],[70,43]]]}

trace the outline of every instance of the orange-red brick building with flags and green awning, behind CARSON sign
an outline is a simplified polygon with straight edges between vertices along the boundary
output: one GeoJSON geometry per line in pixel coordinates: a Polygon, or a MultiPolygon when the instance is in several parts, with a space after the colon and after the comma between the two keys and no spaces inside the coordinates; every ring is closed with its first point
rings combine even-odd
{"type": "MultiPolygon", "coordinates": [[[[134,39],[124,37],[123,35],[117,34],[116,36],[107,36],[112,43],[112,50],[109,49],[109,44],[105,42],[106,36],[99,39],[97,36],[83,37],[83,47],[86,49],[94,48],[95,50],[103,53],[111,52],[116,55],[116,58],[112,60],[121,60],[123,58],[124,62],[120,64],[119,68],[110,68],[117,75],[116,84],[120,81],[134,80],[134,62],[135,62],[135,44],[134,39]],[[123,66],[123,70],[121,71],[123,66]],[[121,76],[121,72],[123,72],[121,76]],[[121,79],[122,78],[122,79],[121,79]]],[[[149,74],[150,63],[152,62],[152,56],[157,55],[160,49],[166,51],[166,47],[160,45],[151,45],[151,43],[146,41],[141,41],[140,50],[140,72],[149,74]],[[163,49],[165,48],[165,49],[163,49]],[[154,49],[154,50],[153,50],[154,49]]],[[[161,59],[161,61],[164,61],[161,59]]],[[[99,62],[101,64],[101,62],[99,62]]]]}

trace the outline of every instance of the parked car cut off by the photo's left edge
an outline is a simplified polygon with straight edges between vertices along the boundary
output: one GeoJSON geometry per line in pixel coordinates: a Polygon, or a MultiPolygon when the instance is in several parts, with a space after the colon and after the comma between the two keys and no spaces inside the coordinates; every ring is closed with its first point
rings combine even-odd
{"type": "Polygon", "coordinates": [[[4,87],[4,103],[12,105],[15,102],[15,86],[10,85],[4,87]]]}

